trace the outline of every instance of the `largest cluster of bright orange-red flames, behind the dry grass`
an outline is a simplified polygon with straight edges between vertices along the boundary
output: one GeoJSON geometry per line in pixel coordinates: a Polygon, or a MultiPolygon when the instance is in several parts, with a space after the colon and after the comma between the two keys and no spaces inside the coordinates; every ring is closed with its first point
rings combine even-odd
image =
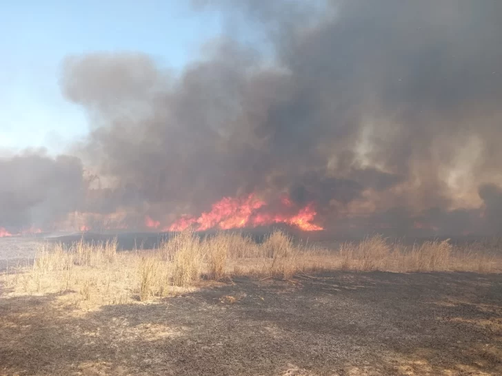
{"type": "Polygon", "coordinates": [[[317,214],[312,204],[291,214],[294,205],[290,199],[283,197],[281,203],[283,207],[288,209],[289,214],[267,211],[266,203],[254,195],[244,199],[225,197],[213,204],[211,210],[202,213],[199,218],[183,216],[164,230],[182,231],[192,225],[197,225],[197,231],[216,228],[225,230],[266,226],[275,223],[290,224],[303,231],[320,231],[323,229],[323,227],[312,223],[317,214]]]}

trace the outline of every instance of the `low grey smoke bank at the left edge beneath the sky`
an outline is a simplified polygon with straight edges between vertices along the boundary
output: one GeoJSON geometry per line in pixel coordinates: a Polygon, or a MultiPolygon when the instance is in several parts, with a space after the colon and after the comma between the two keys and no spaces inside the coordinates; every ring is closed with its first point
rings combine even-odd
{"type": "Polygon", "coordinates": [[[26,151],[0,158],[0,227],[39,228],[66,219],[83,198],[79,158],[26,151]]]}

